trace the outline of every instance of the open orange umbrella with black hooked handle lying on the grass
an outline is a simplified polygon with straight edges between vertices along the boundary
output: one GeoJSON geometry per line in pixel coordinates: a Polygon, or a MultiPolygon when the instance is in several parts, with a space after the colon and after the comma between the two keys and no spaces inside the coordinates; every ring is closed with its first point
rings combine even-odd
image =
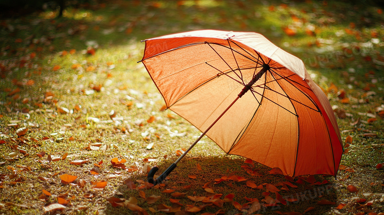
{"type": "MultiPolygon", "coordinates": [[[[336,176],[343,154],[326,95],[304,63],[254,32],[190,31],[145,41],[141,62],[165,100],[227,154],[285,175],[336,176]]],[[[140,61],[139,61],[140,62],[140,61]]]]}

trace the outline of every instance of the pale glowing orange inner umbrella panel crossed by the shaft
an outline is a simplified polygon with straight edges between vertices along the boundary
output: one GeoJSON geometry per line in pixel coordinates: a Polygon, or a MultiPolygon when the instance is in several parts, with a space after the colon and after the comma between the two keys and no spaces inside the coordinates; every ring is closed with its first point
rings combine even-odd
{"type": "MultiPolygon", "coordinates": [[[[253,71],[250,71],[250,73],[253,71]]],[[[244,76],[247,72],[243,70],[244,76]]],[[[228,73],[235,76],[234,73],[228,73]]],[[[261,81],[260,81],[261,82],[261,81]]],[[[243,88],[226,75],[212,79],[187,94],[170,107],[181,117],[187,119],[199,130],[204,131],[213,123],[226,107],[237,97],[243,88]]],[[[258,89],[261,94],[262,89],[258,89]]],[[[256,94],[260,101],[261,95],[256,94]]],[[[252,93],[246,93],[216,123],[207,136],[215,141],[225,152],[228,152],[252,120],[259,104],[252,93]],[[250,102],[252,101],[252,102],[250,102]]]]}

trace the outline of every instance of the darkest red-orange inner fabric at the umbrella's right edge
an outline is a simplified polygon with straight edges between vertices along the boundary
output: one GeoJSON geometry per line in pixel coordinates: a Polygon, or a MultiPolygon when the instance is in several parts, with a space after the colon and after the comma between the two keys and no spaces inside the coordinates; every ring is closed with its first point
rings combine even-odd
{"type": "MultiPolygon", "coordinates": [[[[342,146],[321,102],[306,82],[297,76],[278,82],[289,97],[306,104],[305,106],[292,101],[299,116],[300,126],[295,175],[320,172],[335,175],[341,159],[342,146]],[[316,104],[317,111],[310,104],[316,104]],[[309,166],[312,168],[308,168],[309,166]]],[[[334,117],[333,113],[331,117],[334,117]]]]}

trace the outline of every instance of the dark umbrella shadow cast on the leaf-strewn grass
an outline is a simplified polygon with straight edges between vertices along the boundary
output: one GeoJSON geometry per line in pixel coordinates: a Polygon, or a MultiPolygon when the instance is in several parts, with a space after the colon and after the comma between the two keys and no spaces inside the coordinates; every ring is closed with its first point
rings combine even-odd
{"type": "MultiPolygon", "coordinates": [[[[155,177],[158,177],[170,164],[169,160],[163,161],[155,177]]],[[[222,208],[213,205],[201,210],[201,213],[216,213],[222,209],[225,214],[243,214],[245,210],[250,214],[271,214],[278,211],[304,213],[311,207],[313,209],[306,214],[323,214],[332,210],[336,204],[338,197],[332,177],[303,176],[289,181],[283,175],[271,175],[270,170],[271,168],[258,163],[254,166],[245,164],[244,158],[237,156],[190,157],[181,161],[162,184],[152,188],[142,184],[147,179],[146,174],[132,174],[125,180],[125,184],[120,184],[116,188],[115,193],[118,195],[114,197],[127,200],[134,197],[137,199],[137,205],[146,211],[149,211],[150,207],[156,210],[161,204],[172,207],[169,198],[179,199],[182,206],[174,205],[173,207],[181,207],[183,211],[188,207],[187,205],[204,206],[204,203],[193,202],[188,196],[222,194],[221,199],[224,199],[224,196],[233,193],[235,196],[233,202],[242,205],[243,211],[236,209],[231,202],[225,202],[222,208]],[[324,180],[330,182],[326,183],[324,180]],[[254,184],[258,187],[256,188],[254,184]],[[210,189],[205,188],[211,188],[214,194],[210,193],[210,189]],[[160,199],[153,204],[148,204],[149,202],[142,197],[144,193],[147,200],[152,195],[160,196],[160,199]],[[179,193],[182,194],[179,196],[179,193]],[[252,210],[250,208],[252,203],[249,201],[251,198],[259,201],[258,211],[250,211],[252,210]],[[278,200],[280,203],[277,202],[278,200]]],[[[105,213],[130,214],[131,211],[124,207],[112,207],[111,204],[106,203],[105,213]]]]}

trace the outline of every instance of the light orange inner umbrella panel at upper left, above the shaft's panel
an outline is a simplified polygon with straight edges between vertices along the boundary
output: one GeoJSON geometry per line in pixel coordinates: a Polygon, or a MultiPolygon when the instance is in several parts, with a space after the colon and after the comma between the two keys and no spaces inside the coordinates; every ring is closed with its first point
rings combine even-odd
{"type": "Polygon", "coordinates": [[[245,56],[249,54],[242,49],[232,52],[220,45],[200,44],[152,57],[144,64],[149,71],[156,71],[150,72],[151,78],[169,107],[193,89],[223,75],[222,72],[237,69],[237,64],[245,68],[254,67],[255,60],[245,56]]]}

